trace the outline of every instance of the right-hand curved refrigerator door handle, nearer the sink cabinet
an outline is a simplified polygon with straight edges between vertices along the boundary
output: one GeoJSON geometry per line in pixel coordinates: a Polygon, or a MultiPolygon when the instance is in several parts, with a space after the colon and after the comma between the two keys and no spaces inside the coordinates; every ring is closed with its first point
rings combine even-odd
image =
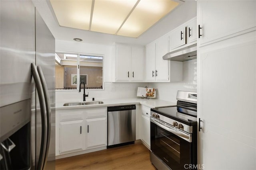
{"type": "Polygon", "coordinates": [[[44,91],[44,100],[45,100],[45,105],[46,105],[46,118],[47,118],[47,138],[46,138],[46,152],[44,155],[44,164],[43,164],[43,169],[45,168],[46,162],[47,162],[47,156],[48,156],[48,151],[50,147],[50,138],[51,138],[51,106],[50,106],[50,99],[49,99],[49,94],[48,94],[48,88],[46,85],[46,81],[44,78],[44,74],[42,71],[42,68],[40,66],[37,66],[38,74],[42,83],[42,88],[44,91]]]}

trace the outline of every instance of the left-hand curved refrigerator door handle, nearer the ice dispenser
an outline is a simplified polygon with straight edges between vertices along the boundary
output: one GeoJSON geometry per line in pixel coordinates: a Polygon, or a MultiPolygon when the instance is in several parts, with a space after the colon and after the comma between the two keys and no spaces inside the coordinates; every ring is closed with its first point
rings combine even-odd
{"type": "Polygon", "coordinates": [[[36,166],[37,170],[42,170],[44,166],[44,159],[46,153],[46,106],[45,106],[45,99],[44,99],[44,91],[42,88],[42,84],[40,81],[40,77],[38,71],[36,69],[36,64],[32,63],[32,74],[35,80],[36,89],[38,91],[38,98],[40,103],[40,111],[41,111],[41,121],[42,121],[42,135],[41,135],[41,146],[40,146],[40,154],[38,158],[38,165],[36,166]]]}

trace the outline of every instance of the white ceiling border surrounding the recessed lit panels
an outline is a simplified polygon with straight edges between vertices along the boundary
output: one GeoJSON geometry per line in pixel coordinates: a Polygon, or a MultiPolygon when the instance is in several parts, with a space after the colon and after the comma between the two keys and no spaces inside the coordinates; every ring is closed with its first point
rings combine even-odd
{"type": "Polygon", "coordinates": [[[49,0],[32,0],[32,2],[36,6],[38,12],[44,19],[46,25],[49,27],[55,39],[74,41],[74,38],[80,38],[83,39],[82,43],[104,45],[112,45],[114,42],[146,45],[158,37],[168,33],[185,21],[188,21],[196,16],[196,1],[186,0],[186,2],[182,3],[172,12],[170,12],[170,14],[167,14],[164,18],[150,27],[150,29],[148,29],[138,38],[132,38],[120,35],[111,35],[107,33],[86,31],[82,29],[61,27],[58,24],[49,0]]]}

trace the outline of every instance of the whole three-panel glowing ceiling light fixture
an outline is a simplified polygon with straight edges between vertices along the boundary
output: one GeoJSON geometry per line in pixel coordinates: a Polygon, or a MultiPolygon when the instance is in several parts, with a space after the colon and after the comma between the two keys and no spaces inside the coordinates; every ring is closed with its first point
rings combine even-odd
{"type": "Polygon", "coordinates": [[[50,0],[60,26],[134,38],[139,37],[182,2],[182,0],[50,0]]]}

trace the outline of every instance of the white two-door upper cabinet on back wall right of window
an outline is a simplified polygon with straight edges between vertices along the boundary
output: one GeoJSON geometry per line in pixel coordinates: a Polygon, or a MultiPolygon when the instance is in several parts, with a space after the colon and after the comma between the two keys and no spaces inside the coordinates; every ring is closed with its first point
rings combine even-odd
{"type": "Polygon", "coordinates": [[[142,82],[144,80],[145,47],[115,44],[115,81],[142,82]]]}

